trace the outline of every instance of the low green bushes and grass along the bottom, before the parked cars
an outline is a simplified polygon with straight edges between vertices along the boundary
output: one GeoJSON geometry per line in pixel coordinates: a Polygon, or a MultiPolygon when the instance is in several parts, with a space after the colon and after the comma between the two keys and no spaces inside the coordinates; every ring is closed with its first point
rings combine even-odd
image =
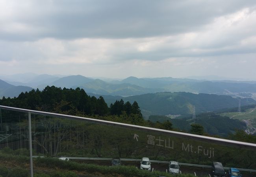
{"type": "MultiPolygon", "coordinates": [[[[0,153],[1,162],[0,162],[0,175],[3,177],[28,177],[29,169],[28,164],[29,160],[21,160],[24,157],[7,155],[0,153]],[[9,162],[13,162],[13,164],[19,164],[23,168],[20,167],[10,167],[3,164],[3,160],[8,160],[9,162]]],[[[28,157],[27,157],[28,159],[28,157]]],[[[79,174],[94,174],[98,175],[106,175],[109,177],[121,175],[122,177],[158,177],[158,176],[166,176],[171,177],[172,175],[154,171],[149,172],[145,170],[139,170],[135,168],[135,166],[100,166],[96,164],[83,164],[77,163],[73,161],[63,161],[54,158],[35,158],[33,159],[34,169],[35,169],[35,177],[78,177],[79,174]],[[55,170],[55,169],[58,170],[55,170]],[[42,170],[44,169],[44,170],[42,170]]],[[[192,177],[193,175],[182,174],[178,175],[179,177],[192,177]]]]}

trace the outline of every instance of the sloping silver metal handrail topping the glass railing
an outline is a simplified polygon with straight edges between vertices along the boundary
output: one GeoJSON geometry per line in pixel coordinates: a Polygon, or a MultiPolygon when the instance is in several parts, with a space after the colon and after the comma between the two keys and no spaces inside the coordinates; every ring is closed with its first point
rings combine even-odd
{"type": "Polygon", "coordinates": [[[156,133],[163,133],[167,135],[173,135],[177,137],[183,137],[183,138],[192,138],[195,140],[201,140],[201,141],[207,141],[212,142],[216,144],[224,144],[228,146],[238,146],[238,147],[249,147],[252,149],[256,149],[256,144],[247,143],[247,142],[239,142],[234,140],[226,140],[221,138],[214,138],[209,136],[201,136],[201,135],[193,135],[189,133],[182,133],[182,132],[176,132],[176,131],[169,131],[169,130],[163,130],[163,129],[156,129],[151,127],[143,127],[139,125],[131,125],[131,124],[124,124],[119,122],[111,122],[106,120],[98,120],[98,119],[92,119],[92,118],[85,118],[85,117],[79,117],[79,116],[69,116],[65,114],[56,114],[51,112],[42,112],[42,111],[33,111],[29,109],[20,109],[15,107],[7,107],[7,106],[1,106],[0,109],[7,109],[11,111],[18,111],[18,112],[25,112],[25,113],[32,113],[32,114],[39,114],[44,116],[54,116],[58,118],[67,118],[71,120],[83,120],[85,122],[94,123],[94,124],[101,124],[101,125],[110,125],[115,127],[122,127],[122,128],[129,128],[129,129],[136,129],[140,131],[150,131],[150,132],[156,132],[156,133]]]}

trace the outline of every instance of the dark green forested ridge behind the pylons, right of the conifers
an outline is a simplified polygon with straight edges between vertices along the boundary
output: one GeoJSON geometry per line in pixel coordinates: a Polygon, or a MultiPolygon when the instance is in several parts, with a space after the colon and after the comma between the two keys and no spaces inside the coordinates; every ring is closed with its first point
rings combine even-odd
{"type": "MultiPolygon", "coordinates": [[[[110,104],[120,97],[103,96],[106,103],[110,104]]],[[[238,107],[241,105],[252,105],[256,101],[248,99],[232,98],[231,96],[219,96],[215,94],[192,94],[187,92],[162,92],[154,94],[143,94],[122,98],[124,101],[137,101],[141,107],[141,112],[145,118],[150,115],[168,114],[192,114],[193,107],[197,113],[207,111],[217,111],[226,108],[238,107]]]]}

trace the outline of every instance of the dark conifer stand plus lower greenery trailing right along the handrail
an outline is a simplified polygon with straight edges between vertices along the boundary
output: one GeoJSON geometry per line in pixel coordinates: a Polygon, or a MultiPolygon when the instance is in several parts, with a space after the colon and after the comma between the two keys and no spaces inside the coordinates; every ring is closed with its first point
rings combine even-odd
{"type": "Polygon", "coordinates": [[[61,89],[60,87],[45,87],[40,91],[20,93],[16,98],[5,98],[0,100],[0,105],[31,109],[36,111],[54,112],[73,116],[87,116],[113,122],[122,122],[142,126],[150,126],[171,130],[170,122],[152,123],[143,119],[140,107],[136,101],[115,101],[108,107],[104,98],[100,96],[88,96],[85,90],[61,89]]]}

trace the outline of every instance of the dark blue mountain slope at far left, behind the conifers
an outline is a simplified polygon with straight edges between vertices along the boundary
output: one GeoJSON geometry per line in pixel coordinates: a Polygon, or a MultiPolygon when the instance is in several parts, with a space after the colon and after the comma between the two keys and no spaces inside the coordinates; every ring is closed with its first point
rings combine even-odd
{"type": "Polygon", "coordinates": [[[3,96],[5,97],[19,96],[21,92],[28,92],[30,90],[32,90],[31,87],[14,86],[0,79],[0,98],[2,98],[3,96]]]}

